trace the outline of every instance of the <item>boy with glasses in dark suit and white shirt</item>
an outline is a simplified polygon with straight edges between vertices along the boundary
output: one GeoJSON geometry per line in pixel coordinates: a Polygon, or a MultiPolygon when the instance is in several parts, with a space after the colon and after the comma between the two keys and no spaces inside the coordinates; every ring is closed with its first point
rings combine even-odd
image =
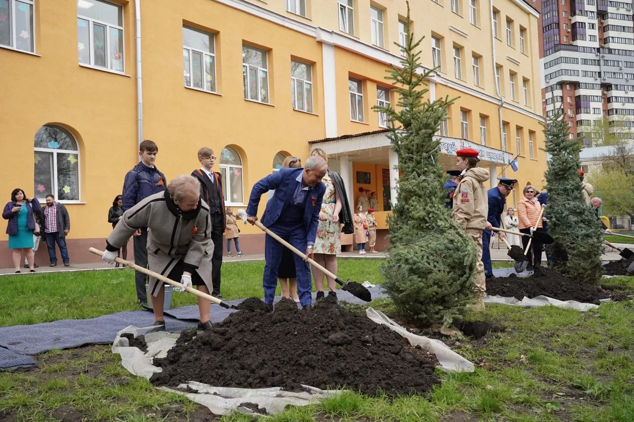
{"type": "Polygon", "coordinates": [[[214,254],[211,256],[211,278],[213,280],[212,296],[223,299],[220,294],[220,270],[223,265],[223,234],[226,228],[224,218],[223,175],[214,172],[216,156],[211,148],[206,146],[198,150],[200,169],[191,172],[200,182],[200,198],[209,205],[211,219],[211,241],[214,243],[214,254]]]}

